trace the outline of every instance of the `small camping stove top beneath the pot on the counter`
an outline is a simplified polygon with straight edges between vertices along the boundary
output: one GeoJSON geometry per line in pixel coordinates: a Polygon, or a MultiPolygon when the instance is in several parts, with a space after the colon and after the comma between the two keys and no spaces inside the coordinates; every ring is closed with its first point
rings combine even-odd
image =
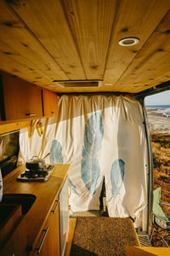
{"type": "Polygon", "coordinates": [[[54,171],[54,166],[45,166],[41,170],[28,170],[26,169],[25,172],[22,172],[16,179],[17,181],[47,181],[48,177],[54,171]]]}

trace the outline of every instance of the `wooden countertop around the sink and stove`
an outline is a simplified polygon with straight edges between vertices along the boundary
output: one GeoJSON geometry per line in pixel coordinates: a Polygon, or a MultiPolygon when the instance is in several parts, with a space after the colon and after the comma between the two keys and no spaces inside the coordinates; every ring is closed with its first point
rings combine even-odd
{"type": "Polygon", "coordinates": [[[37,199],[29,212],[23,216],[19,226],[14,232],[26,227],[26,246],[34,247],[34,242],[42,226],[48,218],[54,201],[65,182],[70,165],[57,164],[48,181],[45,182],[19,182],[16,177],[25,171],[25,165],[19,166],[14,172],[3,178],[3,194],[33,194],[37,199]]]}

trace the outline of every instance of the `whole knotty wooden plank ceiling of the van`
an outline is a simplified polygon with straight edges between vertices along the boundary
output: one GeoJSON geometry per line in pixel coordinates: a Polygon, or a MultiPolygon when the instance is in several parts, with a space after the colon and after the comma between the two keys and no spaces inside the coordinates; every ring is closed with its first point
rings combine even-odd
{"type": "Polygon", "coordinates": [[[56,92],[149,89],[170,80],[169,9],[168,0],[1,0],[0,69],[56,92]],[[120,46],[127,37],[139,44],[120,46]],[[102,86],[54,82],[87,79],[102,86]]]}

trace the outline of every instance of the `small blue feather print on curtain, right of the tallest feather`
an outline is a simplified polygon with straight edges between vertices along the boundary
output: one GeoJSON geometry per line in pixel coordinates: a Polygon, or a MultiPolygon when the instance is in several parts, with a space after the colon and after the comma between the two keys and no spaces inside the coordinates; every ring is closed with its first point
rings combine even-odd
{"type": "MultiPolygon", "coordinates": [[[[116,197],[122,188],[122,183],[124,179],[124,161],[122,159],[115,160],[111,166],[111,198],[116,197]]],[[[108,201],[108,202],[109,202],[108,201]]]]}

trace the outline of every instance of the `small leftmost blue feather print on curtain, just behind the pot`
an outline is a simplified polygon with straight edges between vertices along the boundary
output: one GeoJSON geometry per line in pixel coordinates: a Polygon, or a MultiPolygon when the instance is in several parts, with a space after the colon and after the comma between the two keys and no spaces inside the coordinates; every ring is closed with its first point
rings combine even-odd
{"type": "Polygon", "coordinates": [[[50,148],[50,164],[63,164],[63,155],[61,144],[54,140],[50,148]]]}

